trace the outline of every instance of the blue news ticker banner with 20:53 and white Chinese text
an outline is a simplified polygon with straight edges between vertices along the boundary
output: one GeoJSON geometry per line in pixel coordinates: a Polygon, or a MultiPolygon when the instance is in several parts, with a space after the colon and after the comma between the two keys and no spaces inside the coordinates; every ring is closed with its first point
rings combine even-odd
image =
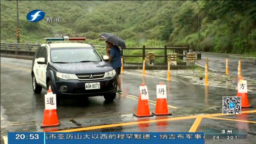
{"type": "Polygon", "coordinates": [[[8,132],[8,144],[204,144],[204,132],[8,132]]]}

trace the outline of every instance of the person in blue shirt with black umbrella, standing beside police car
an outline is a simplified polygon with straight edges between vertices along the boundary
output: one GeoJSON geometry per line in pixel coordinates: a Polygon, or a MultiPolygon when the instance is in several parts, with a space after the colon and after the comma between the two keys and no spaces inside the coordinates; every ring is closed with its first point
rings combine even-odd
{"type": "Polygon", "coordinates": [[[104,39],[106,41],[106,54],[109,57],[110,64],[116,71],[117,75],[117,84],[118,84],[118,94],[122,94],[122,88],[121,88],[121,82],[120,82],[120,72],[121,72],[121,53],[120,50],[121,48],[126,48],[124,40],[122,40],[120,37],[110,34],[110,33],[103,33],[100,35],[101,39],[104,39]],[[119,47],[121,48],[119,48],[119,47]],[[110,48],[110,51],[108,49],[110,48]]]}

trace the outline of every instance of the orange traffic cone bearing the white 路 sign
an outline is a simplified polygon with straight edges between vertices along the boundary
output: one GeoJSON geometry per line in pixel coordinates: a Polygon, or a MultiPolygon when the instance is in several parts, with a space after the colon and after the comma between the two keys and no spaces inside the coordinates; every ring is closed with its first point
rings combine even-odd
{"type": "MultiPolygon", "coordinates": [[[[145,84],[141,84],[141,86],[145,86],[145,84]]],[[[148,100],[141,100],[141,95],[139,97],[137,113],[133,115],[137,117],[154,116],[150,112],[148,100]]]]}

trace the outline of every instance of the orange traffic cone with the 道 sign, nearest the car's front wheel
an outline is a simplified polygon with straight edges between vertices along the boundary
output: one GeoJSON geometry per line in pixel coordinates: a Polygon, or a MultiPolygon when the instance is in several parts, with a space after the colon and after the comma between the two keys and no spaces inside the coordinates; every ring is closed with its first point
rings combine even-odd
{"type": "MultiPolygon", "coordinates": [[[[47,94],[51,93],[51,90],[47,90],[47,94]]],[[[60,126],[60,122],[57,116],[57,110],[46,110],[44,109],[44,118],[41,128],[48,126],[60,126]]]]}

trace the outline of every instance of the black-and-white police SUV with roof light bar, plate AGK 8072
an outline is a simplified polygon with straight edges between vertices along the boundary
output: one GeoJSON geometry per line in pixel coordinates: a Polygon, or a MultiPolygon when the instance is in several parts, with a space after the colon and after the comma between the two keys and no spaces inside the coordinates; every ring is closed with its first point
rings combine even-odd
{"type": "Polygon", "coordinates": [[[86,38],[45,38],[36,50],[32,62],[33,91],[52,90],[57,104],[62,96],[104,96],[106,101],[116,97],[116,72],[94,47],[84,43],[54,41],[85,41],[86,38]]]}

